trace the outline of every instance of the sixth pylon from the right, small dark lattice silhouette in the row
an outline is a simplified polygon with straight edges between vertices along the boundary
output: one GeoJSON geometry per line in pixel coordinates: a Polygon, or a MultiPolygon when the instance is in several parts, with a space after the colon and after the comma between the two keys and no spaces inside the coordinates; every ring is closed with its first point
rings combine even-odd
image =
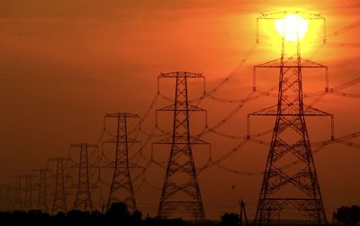
{"type": "Polygon", "coordinates": [[[39,173],[38,177],[38,195],[36,200],[36,208],[42,212],[49,212],[48,203],[48,168],[34,169],[34,172],[39,173]]]}

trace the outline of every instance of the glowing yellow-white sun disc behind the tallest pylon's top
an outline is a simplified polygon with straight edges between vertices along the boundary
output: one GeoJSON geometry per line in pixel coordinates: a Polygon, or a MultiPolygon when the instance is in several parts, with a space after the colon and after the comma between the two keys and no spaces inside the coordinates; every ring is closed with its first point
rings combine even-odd
{"type": "Polygon", "coordinates": [[[275,28],[286,41],[298,41],[302,40],[308,31],[308,21],[300,15],[290,14],[284,19],[276,20],[275,28]]]}

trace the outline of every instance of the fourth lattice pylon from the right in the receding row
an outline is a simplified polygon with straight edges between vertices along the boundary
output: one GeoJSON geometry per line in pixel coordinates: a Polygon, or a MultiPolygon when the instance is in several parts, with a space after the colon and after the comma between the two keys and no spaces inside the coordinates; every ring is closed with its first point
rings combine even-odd
{"type": "Polygon", "coordinates": [[[88,149],[97,149],[97,145],[88,143],[73,144],[70,148],[79,149],[79,163],[77,177],[77,192],[74,203],[75,210],[93,210],[89,182],[89,155],[88,149]]]}

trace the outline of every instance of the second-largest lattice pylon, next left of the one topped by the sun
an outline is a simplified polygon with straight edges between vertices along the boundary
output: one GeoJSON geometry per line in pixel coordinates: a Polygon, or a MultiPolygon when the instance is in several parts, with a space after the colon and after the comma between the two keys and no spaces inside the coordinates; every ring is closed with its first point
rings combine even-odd
{"type": "Polygon", "coordinates": [[[201,74],[174,72],[161,74],[158,78],[175,78],[176,83],[174,104],[157,109],[174,112],[172,136],[154,143],[171,145],[157,216],[163,218],[183,211],[195,220],[202,221],[205,220],[205,213],[193,162],[192,145],[209,143],[190,135],[189,112],[205,110],[189,104],[187,78],[204,77],[201,74]]]}

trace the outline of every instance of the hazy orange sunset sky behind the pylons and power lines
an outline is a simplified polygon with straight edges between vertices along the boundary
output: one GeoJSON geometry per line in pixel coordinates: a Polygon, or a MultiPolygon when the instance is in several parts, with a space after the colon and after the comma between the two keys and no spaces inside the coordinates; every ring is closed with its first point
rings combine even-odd
{"type": "MultiPolygon", "coordinates": [[[[214,95],[245,98],[252,90],[253,66],[280,57],[273,25],[260,24],[260,41],[256,43],[257,16],[284,10],[322,14],[328,34],[360,20],[358,0],[0,0],[1,184],[10,182],[9,176],[45,167],[48,158],[67,156],[70,144],[96,143],[105,113],[142,116],[157,94],[161,72],[202,73],[208,90],[233,73],[214,95]]],[[[309,31],[307,35],[316,38],[318,32],[309,31]]],[[[329,67],[330,87],[342,85],[360,77],[359,36],[360,25],[329,37],[327,44],[304,41],[302,58],[329,67]]],[[[324,89],[322,72],[311,72],[309,77],[304,73],[303,77],[304,93],[324,89]]],[[[278,82],[277,77],[266,75],[257,79],[263,90],[278,82]]],[[[165,95],[174,95],[174,83],[161,85],[165,95]]],[[[201,81],[191,81],[189,86],[193,87],[190,98],[202,95],[201,81]]],[[[341,91],[360,94],[360,84],[341,91]]],[[[274,105],[275,101],[262,97],[249,102],[219,131],[244,135],[247,113],[274,105]]],[[[335,134],[340,137],[360,131],[359,101],[326,95],[316,107],[334,114],[335,134]]],[[[166,104],[157,101],[144,122],[144,130],[153,130],[154,111],[166,104]]],[[[208,110],[211,127],[237,104],[205,98],[200,106],[208,110]]],[[[202,119],[201,115],[194,117],[202,119]]],[[[251,123],[256,133],[271,129],[274,119],[257,117],[251,123]]],[[[309,119],[307,123],[312,141],[329,139],[328,119],[309,119]]],[[[171,129],[171,115],[164,116],[159,124],[171,129]]],[[[193,133],[201,131],[202,126],[196,123],[193,133]]],[[[146,138],[142,135],[138,139],[146,138]]],[[[214,159],[239,142],[213,133],[202,140],[211,142],[214,159]]],[[[351,141],[360,143],[360,138],[351,141]]],[[[164,160],[168,150],[156,151],[155,155],[164,160]]],[[[201,167],[208,152],[193,151],[195,164],[201,167]]],[[[150,152],[148,145],[144,155],[150,152]]],[[[268,147],[249,142],[223,165],[261,172],[267,152],[268,147]]],[[[359,160],[360,149],[341,144],[329,145],[315,155],[328,218],[341,205],[360,204],[359,160]]],[[[164,174],[162,168],[153,165],[146,178],[152,185],[161,186],[164,174]]],[[[254,216],[262,176],[240,176],[211,167],[199,175],[199,180],[208,218],[237,212],[241,198],[247,203],[249,217],[254,216]]],[[[141,186],[137,193],[139,209],[156,214],[159,195],[159,190],[141,186]]]]}

